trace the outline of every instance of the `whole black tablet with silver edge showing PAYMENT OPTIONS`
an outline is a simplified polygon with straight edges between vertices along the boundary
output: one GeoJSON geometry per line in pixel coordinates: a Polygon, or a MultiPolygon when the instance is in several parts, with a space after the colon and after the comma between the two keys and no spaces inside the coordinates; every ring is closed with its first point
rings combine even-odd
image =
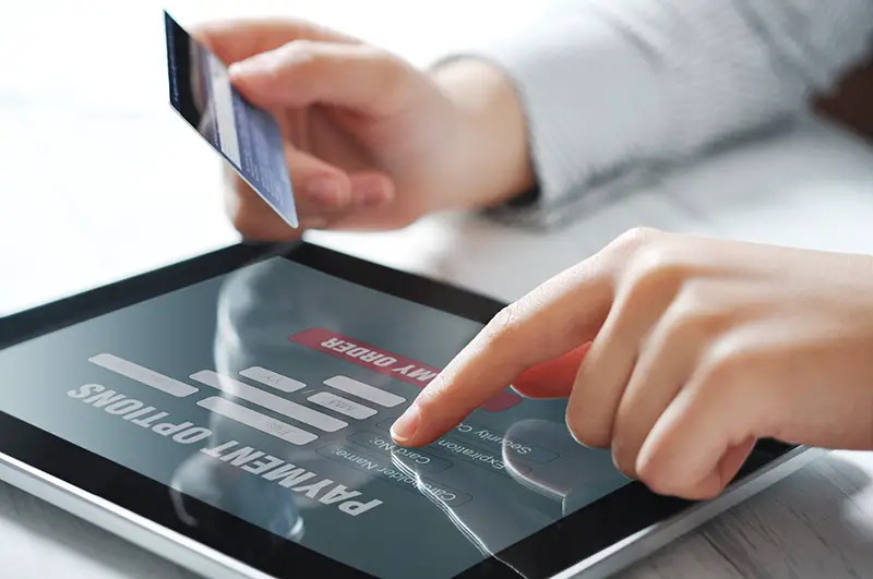
{"type": "Polygon", "coordinates": [[[565,401],[506,389],[424,448],[388,429],[502,307],[306,242],[239,244],[0,321],[0,478],[214,578],[601,577],[718,499],[624,478],[565,401]]]}

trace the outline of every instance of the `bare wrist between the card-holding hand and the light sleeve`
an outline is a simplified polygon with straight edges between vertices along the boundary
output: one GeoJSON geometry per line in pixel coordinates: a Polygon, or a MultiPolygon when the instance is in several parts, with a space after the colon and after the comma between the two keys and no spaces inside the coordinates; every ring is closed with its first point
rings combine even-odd
{"type": "Polygon", "coordinates": [[[452,60],[430,74],[458,113],[453,156],[466,208],[493,207],[533,190],[527,120],[511,80],[474,58],[452,60]]]}

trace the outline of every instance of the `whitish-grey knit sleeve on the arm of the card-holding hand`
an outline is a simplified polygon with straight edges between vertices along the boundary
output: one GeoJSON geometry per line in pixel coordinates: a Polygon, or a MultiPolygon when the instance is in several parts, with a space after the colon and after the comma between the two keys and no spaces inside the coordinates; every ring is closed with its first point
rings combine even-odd
{"type": "Polygon", "coordinates": [[[452,58],[489,59],[518,89],[538,196],[501,212],[535,225],[634,171],[790,118],[873,41],[873,0],[531,4],[452,58]]]}

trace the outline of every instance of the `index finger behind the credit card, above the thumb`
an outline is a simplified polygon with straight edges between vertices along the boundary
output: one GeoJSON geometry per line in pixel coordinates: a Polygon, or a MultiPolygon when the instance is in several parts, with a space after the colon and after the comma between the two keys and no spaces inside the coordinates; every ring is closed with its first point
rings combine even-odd
{"type": "Polygon", "coordinates": [[[225,64],[275,50],[292,40],[354,43],[355,39],[303,20],[239,19],[192,26],[191,35],[225,64]]]}

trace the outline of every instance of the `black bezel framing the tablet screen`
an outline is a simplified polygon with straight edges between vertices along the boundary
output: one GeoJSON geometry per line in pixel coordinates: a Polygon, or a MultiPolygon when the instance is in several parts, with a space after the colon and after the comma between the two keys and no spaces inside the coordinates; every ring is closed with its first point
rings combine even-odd
{"type": "MultiPolygon", "coordinates": [[[[0,350],[276,255],[482,324],[503,306],[483,295],[308,242],[284,245],[240,243],[8,316],[0,321],[0,350]]],[[[738,479],[794,448],[775,441],[761,441],[738,479]]],[[[267,575],[295,579],[310,574],[336,579],[370,577],[205,504],[199,506],[210,514],[215,524],[236,532],[222,533],[220,536],[229,538],[223,540],[203,529],[189,527],[176,515],[166,485],[2,412],[0,453],[267,575]]],[[[517,567],[518,562],[522,562],[527,577],[549,578],[680,514],[690,505],[685,500],[656,495],[643,484],[631,482],[505,552],[467,569],[457,579],[516,578],[517,572],[513,567],[517,567]]]]}

